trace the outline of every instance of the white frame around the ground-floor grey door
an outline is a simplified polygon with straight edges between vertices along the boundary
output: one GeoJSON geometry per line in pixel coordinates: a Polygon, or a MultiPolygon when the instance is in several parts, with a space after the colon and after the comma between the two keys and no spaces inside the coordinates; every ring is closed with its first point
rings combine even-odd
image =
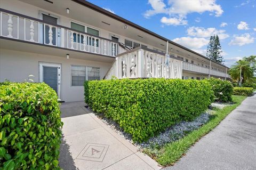
{"type": "Polygon", "coordinates": [[[39,82],[43,83],[43,67],[53,67],[58,68],[58,98],[61,99],[61,64],[60,63],[49,63],[49,62],[39,62],[39,82]]]}

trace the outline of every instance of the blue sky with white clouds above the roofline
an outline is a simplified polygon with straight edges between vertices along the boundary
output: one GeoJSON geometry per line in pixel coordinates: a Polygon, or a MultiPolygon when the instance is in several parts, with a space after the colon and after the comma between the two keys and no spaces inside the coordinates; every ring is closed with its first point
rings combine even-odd
{"type": "Polygon", "coordinates": [[[203,55],[218,34],[225,64],[256,55],[256,0],[90,0],[203,55]]]}

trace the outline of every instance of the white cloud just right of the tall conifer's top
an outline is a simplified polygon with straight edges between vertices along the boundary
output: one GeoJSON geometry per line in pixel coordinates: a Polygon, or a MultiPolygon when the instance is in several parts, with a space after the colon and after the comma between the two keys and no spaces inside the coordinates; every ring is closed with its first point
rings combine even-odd
{"type": "Polygon", "coordinates": [[[253,42],[254,42],[254,38],[251,37],[250,34],[245,33],[245,34],[242,34],[241,36],[234,35],[233,39],[231,39],[231,42],[229,43],[229,45],[243,46],[245,44],[250,44],[253,42]]]}

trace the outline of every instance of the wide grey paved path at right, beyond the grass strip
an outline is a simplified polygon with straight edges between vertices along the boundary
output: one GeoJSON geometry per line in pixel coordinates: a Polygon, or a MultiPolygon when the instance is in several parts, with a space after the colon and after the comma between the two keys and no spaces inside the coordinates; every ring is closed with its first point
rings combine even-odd
{"type": "Polygon", "coordinates": [[[256,169],[256,94],[166,169],[256,169]]]}

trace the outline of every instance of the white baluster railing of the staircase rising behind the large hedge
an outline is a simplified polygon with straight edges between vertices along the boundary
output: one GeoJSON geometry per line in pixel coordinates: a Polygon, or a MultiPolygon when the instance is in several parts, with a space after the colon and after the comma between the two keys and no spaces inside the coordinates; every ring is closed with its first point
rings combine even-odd
{"type": "Polygon", "coordinates": [[[181,78],[182,61],[146,47],[119,54],[105,79],[117,78],[181,78]]]}

